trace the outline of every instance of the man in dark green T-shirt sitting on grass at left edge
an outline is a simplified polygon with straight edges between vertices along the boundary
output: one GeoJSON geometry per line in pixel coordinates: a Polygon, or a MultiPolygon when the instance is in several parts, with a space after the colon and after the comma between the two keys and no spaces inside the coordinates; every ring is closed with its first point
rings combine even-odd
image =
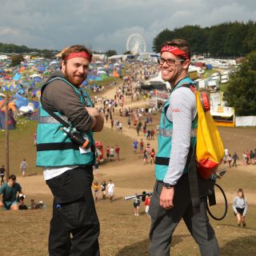
{"type": "Polygon", "coordinates": [[[16,176],[11,174],[8,177],[8,182],[0,186],[0,195],[2,194],[0,207],[5,210],[18,210],[17,193],[22,194],[22,187],[16,182],[16,176]]]}

